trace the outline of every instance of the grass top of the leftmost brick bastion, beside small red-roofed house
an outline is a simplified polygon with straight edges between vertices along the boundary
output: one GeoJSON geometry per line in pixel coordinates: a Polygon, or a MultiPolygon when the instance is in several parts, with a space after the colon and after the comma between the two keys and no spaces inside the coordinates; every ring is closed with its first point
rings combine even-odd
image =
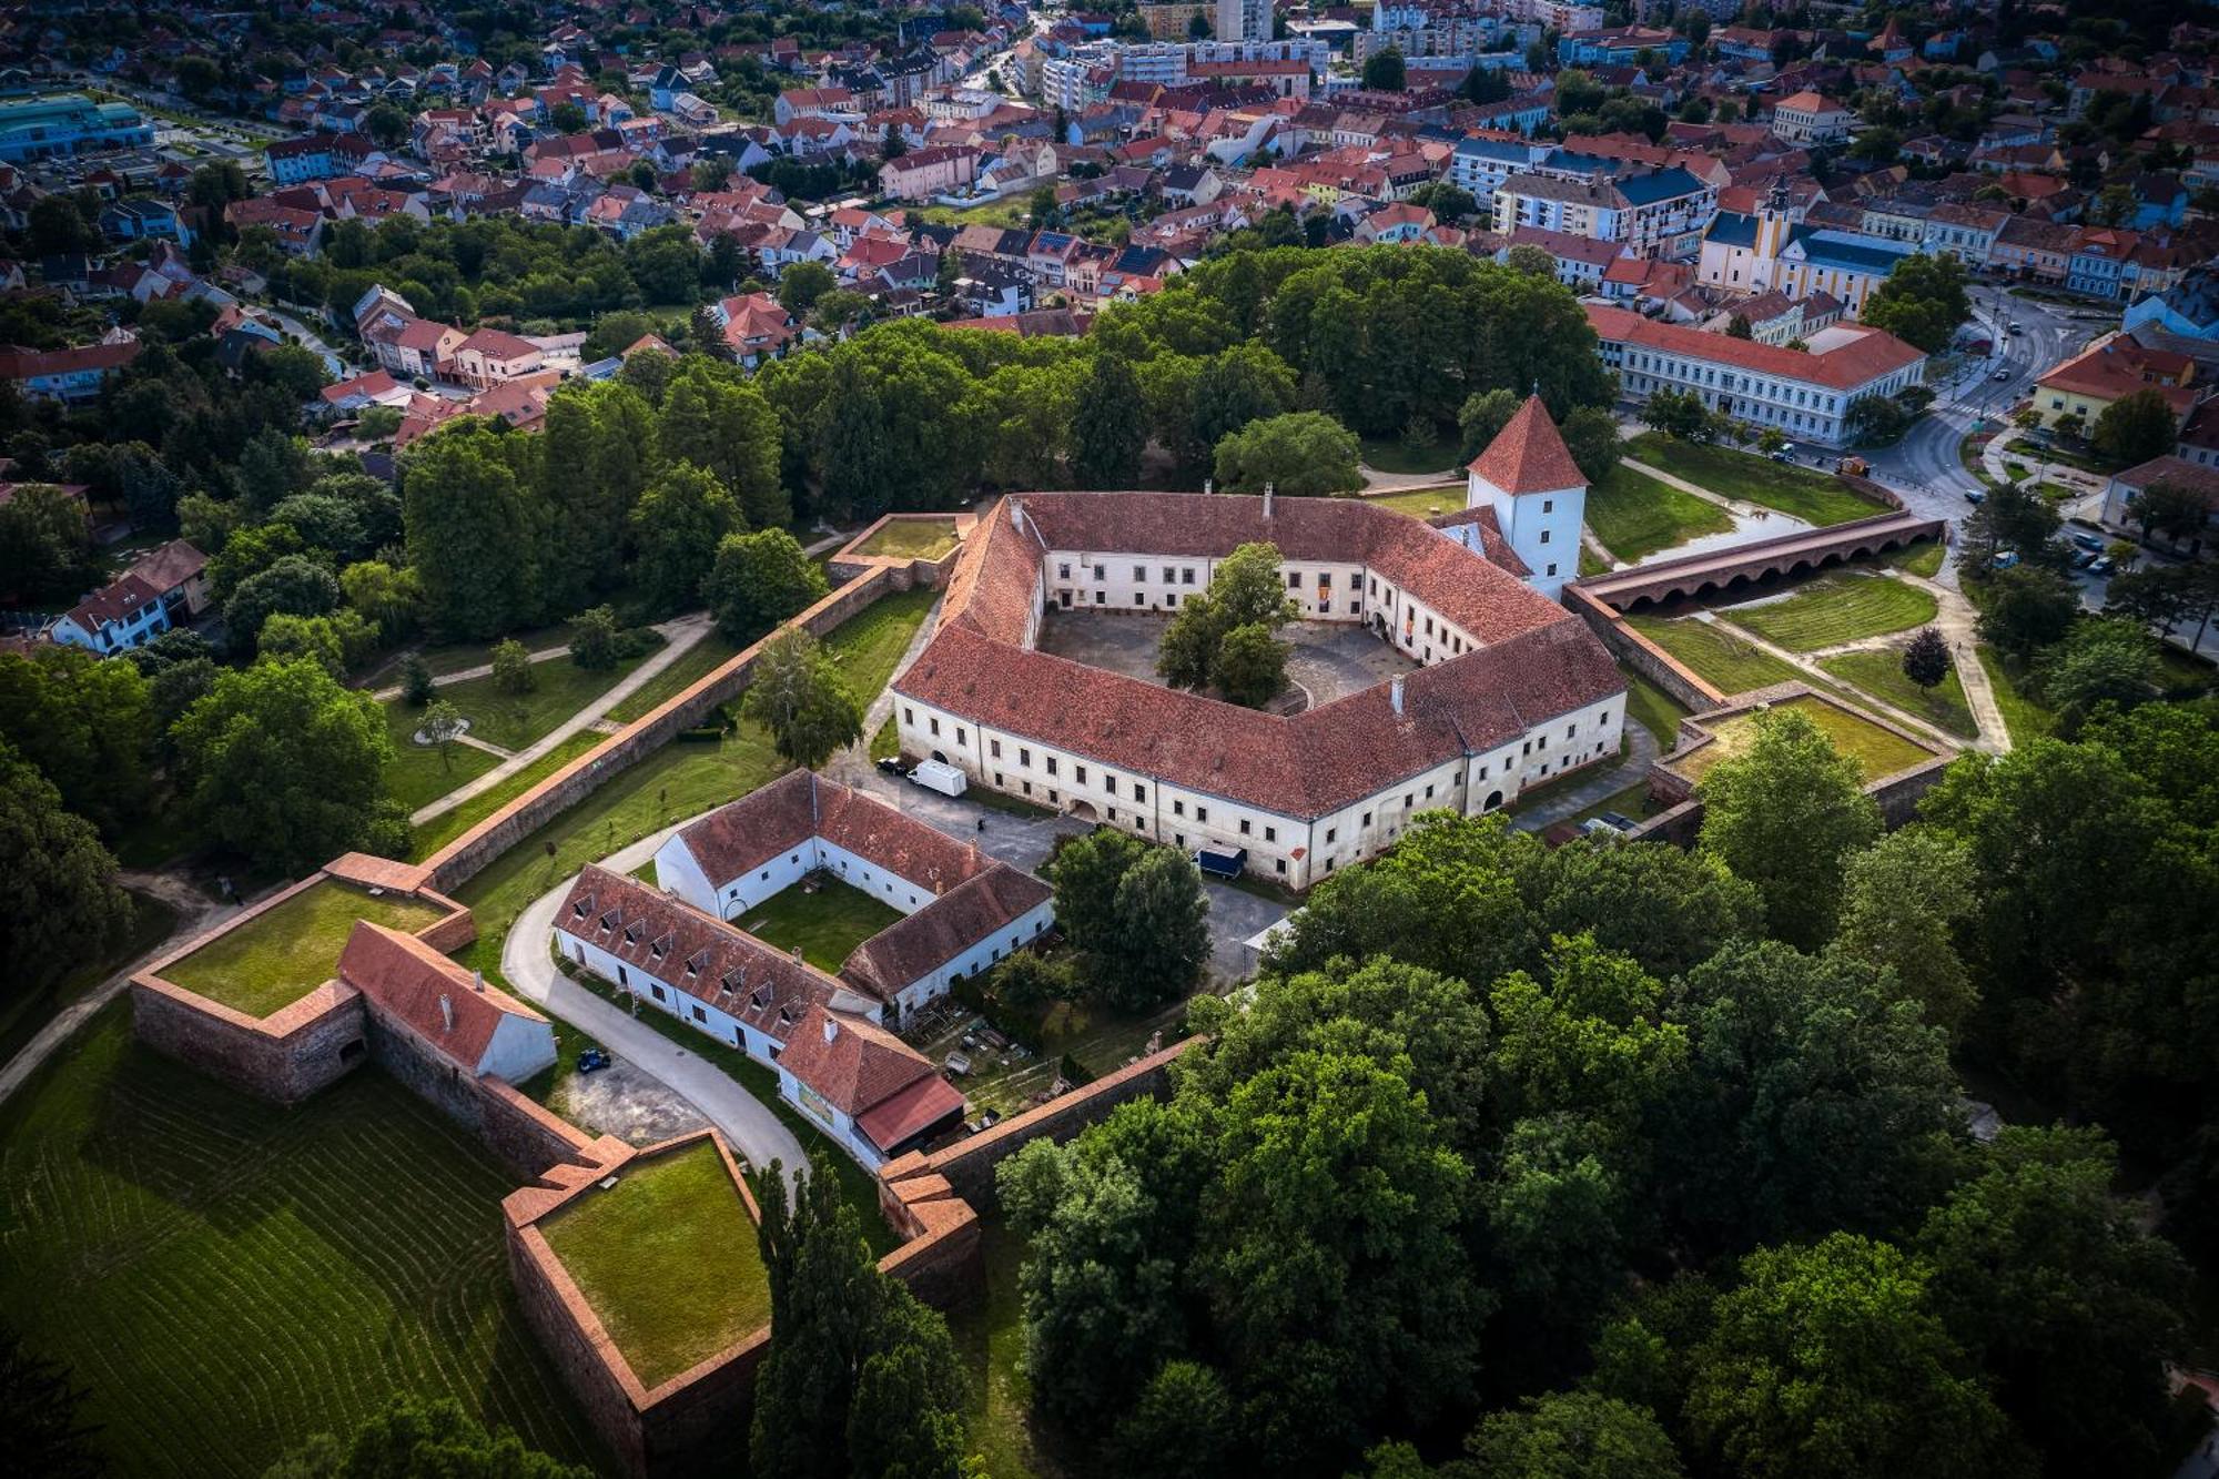
{"type": "Polygon", "coordinates": [[[162,975],[249,1017],[268,1017],[331,979],[355,919],[415,933],[439,915],[435,904],[373,897],[326,877],[171,962],[162,975]]]}

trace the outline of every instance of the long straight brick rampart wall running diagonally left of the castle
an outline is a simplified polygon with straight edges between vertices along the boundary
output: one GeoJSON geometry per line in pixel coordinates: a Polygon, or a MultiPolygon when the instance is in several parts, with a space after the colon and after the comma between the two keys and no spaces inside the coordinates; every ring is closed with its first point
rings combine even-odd
{"type": "MultiPolygon", "coordinates": [[[[821,637],[863,606],[899,588],[905,588],[903,582],[899,582],[885,566],[879,566],[863,577],[848,582],[839,591],[832,591],[821,602],[797,615],[790,624],[821,637]]],[[[786,628],[781,626],[779,631],[786,628]]],[[[739,693],[748,686],[748,677],[754,673],[754,660],[761,655],[766,642],[770,642],[770,637],[734,653],[730,662],[706,675],[695,686],[610,735],[608,744],[586,751],[568,766],[433,853],[424,859],[424,866],[430,871],[433,879],[437,879],[437,886],[453,893],[517,842],[546,826],[546,822],[559,813],[584,802],[617,771],[646,759],[668,744],[672,735],[701,724],[712,708],[739,697],[739,693]]]]}

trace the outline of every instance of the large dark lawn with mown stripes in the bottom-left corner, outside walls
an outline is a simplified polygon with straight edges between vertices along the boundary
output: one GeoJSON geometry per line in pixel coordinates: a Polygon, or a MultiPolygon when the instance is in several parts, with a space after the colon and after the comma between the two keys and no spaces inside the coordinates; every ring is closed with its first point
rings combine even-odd
{"type": "Polygon", "coordinates": [[[515,1188],[382,1073],[273,1110],[115,1004],[0,1108],[0,1317],[89,1390],[115,1475],[251,1479],[397,1392],[606,1463],[508,1281],[515,1188]]]}

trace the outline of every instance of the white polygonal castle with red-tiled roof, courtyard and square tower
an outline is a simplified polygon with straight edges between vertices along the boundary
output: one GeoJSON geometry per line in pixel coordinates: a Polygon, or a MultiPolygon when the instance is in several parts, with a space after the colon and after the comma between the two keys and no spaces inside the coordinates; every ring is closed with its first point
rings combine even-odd
{"type": "Polygon", "coordinates": [[[1360,500],[1030,493],[965,544],[941,626],[894,684],[901,748],[974,784],[1178,848],[1247,848],[1291,888],[1371,857],[1422,811],[1496,811],[1618,755],[1624,680],[1553,593],[1584,482],[1540,402],[1433,529],[1360,500]],[[1283,717],[1038,651],[1054,611],[1176,611],[1240,544],[1278,546],[1307,620],[1418,664],[1283,717]]]}

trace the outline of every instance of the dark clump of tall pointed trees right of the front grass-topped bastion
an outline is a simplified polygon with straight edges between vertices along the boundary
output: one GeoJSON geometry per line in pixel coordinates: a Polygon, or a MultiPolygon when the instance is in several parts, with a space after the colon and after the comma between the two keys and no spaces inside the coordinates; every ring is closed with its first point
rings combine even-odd
{"type": "Polygon", "coordinates": [[[779,1339],[754,1372],[750,1472],[954,1472],[963,1459],[965,1384],[948,1321],[879,1272],[823,1155],[799,1186],[777,1161],[770,1170],[757,1241],[779,1339]]]}

